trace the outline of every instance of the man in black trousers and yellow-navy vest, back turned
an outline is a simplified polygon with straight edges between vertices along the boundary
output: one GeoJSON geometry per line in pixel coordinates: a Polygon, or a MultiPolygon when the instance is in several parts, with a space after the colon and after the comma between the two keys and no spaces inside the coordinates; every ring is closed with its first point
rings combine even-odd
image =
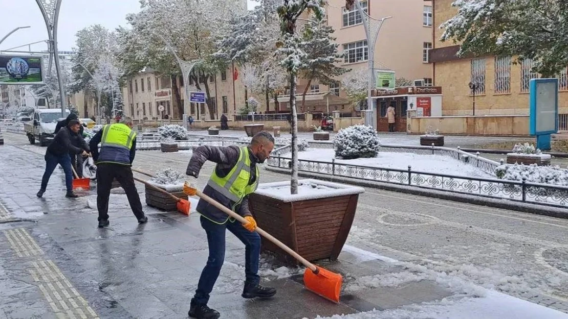
{"type": "Polygon", "coordinates": [[[124,116],[120,123],[103,126],[103,129],[98,131],[90,142],[93,159],[97,164],[99,228],[110,224],[108,222],[108,199],[112,181],[115,179],[126,192],[128,203],[138,223],[148,222],[142,210],[142,203],[132,175],[132,161],[136,155],[136,132],[132,130],[132,126],[134,126],[132,118],[124,116]],[[100,152],[99,143],[101,143],[100,152]]]}

